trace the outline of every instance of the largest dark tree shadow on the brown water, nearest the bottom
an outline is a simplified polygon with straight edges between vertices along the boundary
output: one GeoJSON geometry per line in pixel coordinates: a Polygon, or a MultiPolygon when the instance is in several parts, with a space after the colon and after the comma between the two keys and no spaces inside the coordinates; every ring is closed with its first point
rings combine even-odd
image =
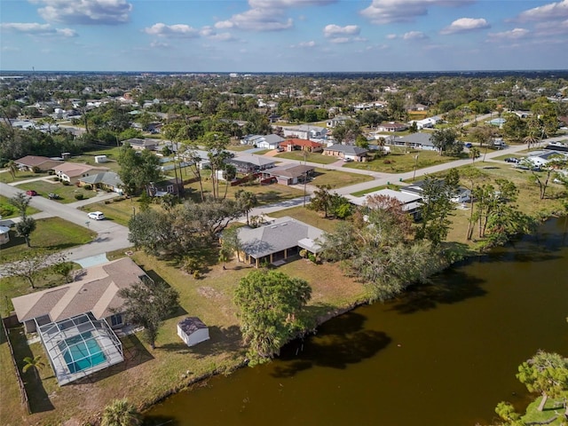
{"type": "Polygon", "coordinates": [[[382,331],[364,329],[365,320],[358,312],[347,312],[325,324],[325,335],[288,343],[272,375],[291,377],[312,367],[344,369],[375,356],[391,338],[382,331]]]}

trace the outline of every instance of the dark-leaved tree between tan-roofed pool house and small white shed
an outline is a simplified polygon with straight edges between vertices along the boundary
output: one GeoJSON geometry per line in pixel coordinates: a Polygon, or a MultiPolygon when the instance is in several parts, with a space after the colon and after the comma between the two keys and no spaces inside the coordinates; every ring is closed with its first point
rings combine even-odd
{"type": "Polygon", "coordinates": [[[130,288],[121,288],[119,296],[124,299],[121,311],[126,320],[144,327],[144,336],[152,349],[164,319],[176,312],[179,295],[164,281],[142,280],[130,288]]]}

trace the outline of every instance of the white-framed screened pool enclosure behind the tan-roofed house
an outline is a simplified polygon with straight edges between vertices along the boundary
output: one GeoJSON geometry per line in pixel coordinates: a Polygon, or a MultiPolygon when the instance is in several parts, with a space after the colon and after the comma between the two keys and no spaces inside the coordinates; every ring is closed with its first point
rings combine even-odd
{"type": "Polygon", "coordinates": [[[45,324],[41,324],[41,319],[36,319],[37,329],[59,385],[124,359],[119,338],[105,319],[95,319],[91,312],[45,324]]]}

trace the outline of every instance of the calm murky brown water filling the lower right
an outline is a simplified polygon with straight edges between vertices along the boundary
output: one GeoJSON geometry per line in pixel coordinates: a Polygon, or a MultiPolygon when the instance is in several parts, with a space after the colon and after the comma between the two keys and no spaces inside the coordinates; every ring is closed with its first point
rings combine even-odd
{"type": "Polygon", "coordinates": [[[459,264],[430,288],[349,312],[267,366],[179,393],[147,414],[168,425],[474,425],[527,395],[517,366],[568,355],[565,220],[459,264]]]}

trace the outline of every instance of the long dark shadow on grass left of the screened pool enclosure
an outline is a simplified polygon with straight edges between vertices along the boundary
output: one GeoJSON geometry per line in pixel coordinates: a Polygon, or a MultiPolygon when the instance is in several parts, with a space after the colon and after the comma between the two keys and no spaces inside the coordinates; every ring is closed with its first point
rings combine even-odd
{"type": "MultiPolygon", "coordinates": [[[[30,368],[26,373],[21,372],[25,364],[24,358],[34,358],[34,354],[29,348],[27,336],[23,331],[23,327],[14,327],[10,329],[10,342],[12,343],[14,350],[16,365],[18,366],[21,378],[24,381],[26,393],[28,394],[30,412],[34,414],[54,410],[55,407],[51,404],[51,400],[43,388],[43,382],[34,374],[34,369],[30,368]]],[[[41,356],[46,364],[45,367],[43,367],[43,371],[48,368],[51,370],[47,361],[47,355],[42,353],[41,356]]],[[[41,372],[39,373],[41,374],[41,372]]]]}

